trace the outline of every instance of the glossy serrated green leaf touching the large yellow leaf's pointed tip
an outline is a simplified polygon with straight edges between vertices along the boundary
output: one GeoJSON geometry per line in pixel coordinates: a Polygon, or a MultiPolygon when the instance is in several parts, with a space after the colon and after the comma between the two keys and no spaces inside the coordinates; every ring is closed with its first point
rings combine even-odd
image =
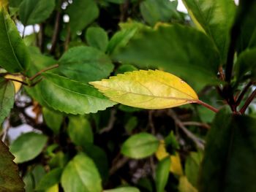
{"type": "Polygon", "coordinates": [[[54,110],[72,114],[84,114],[105,110],[116,104],[108,100],[90,85],[83,84],[58,74],[43,74],[42,98],[54,110]]]}

